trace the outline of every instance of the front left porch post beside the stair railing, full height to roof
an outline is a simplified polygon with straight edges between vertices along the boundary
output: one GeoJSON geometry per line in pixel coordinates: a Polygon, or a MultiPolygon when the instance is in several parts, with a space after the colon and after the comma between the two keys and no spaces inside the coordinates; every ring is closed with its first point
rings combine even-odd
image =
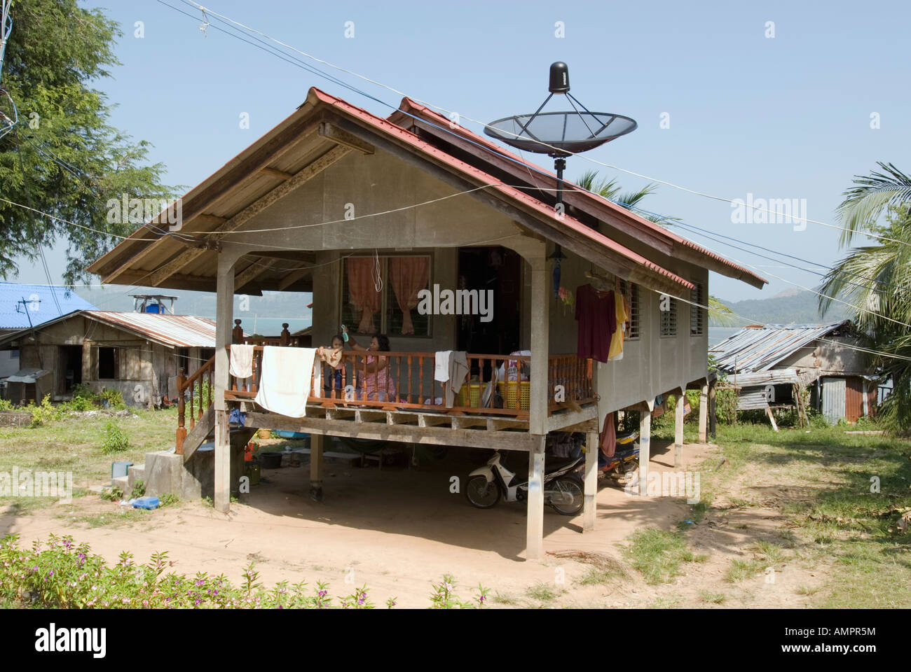
{"type": "MultiPolygon", "coordinates": [[[[229,355],[234,311],[234,261],[219,254],[215,298],[215,378],[212,400],[215,410],[215,510],[227,514],[230,509],[230,427],[225,391],[229,384],[229,355]]],[[[201,380],[201,377],[200,377],[201,380]]],[[[200,407],[203,405],[200,395],[200,407]]]]}

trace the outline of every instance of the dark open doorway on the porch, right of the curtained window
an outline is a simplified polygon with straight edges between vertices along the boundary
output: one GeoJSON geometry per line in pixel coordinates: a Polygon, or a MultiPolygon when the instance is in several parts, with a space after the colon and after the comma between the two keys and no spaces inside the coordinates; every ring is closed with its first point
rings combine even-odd
{"type": "Polygon", "coordinates": [[[522,259],[511,249],[459,249],[457,289],[492,290],[493,310],[489,321],[482,321],[480,315],[459,318],[457,350],[490,354],[518,350],[522,328],[521,269],[522,259]]]}

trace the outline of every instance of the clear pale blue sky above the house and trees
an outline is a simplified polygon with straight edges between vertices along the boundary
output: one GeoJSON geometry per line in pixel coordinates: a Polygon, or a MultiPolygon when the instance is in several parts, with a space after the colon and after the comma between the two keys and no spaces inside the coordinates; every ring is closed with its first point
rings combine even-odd
{"type": "MultiPolygon", "coordinates": [[[[155,146],[151,158],[167,165],[169,184],[190,187],[207,178],[290,114],[311,86],[383,116],[398,105],[393,92],[353,76],[330,70],[392,107],[211,26],[204,34],[199,10],[167,1],[193,17],[157,0],[82,5],[107,5],[122,25],[123,65],[97,87],[118,106],[112,123],[155,146]],[[249,114],[250,128],[240,127],[241,113],[249,114]]],[[[587,157],[725,198],[805,199],[809,219],[837,224],[842,192],[877,160],[911,170],[903,160],[911,150],[906,3],[210,2],[204,4],[213,11],[302,51],[458,111],[477,132],[464,117],[490,121],[534,111],[548,93],[549,64],[566,61],[572,93],[586,107],[639,122],[636,131],[587,157]],[[345,37],[349,21],[353,38],[345,37]],[[564,25],[562,38],[555,35],[557,22],[564,25]],[[670,127],[660,127],[664,113],[670,127]],[[873,114],[878,128],[871,128],[873,114]]],[[[547,109],[557,108],[551,101],[547,109]]],[[[547,157],[537,162],[551,166],[547,157]]],[[[648,181],[568,158],[568,178],[589,168],[619,178],[625,188],[648,181]]],[[[666,186],[641,205],[825,265],[841,254],[836,229],[736,223],[729,203],[666,186]]],[[[806,287],[818,283],[805,270],[681,234],[772,280],[759,291],[713,275],[711,293],[722,298],[765,298],[793,288],[771,275],[806,287]]],[[[63,267],[63,249],[48,252],[52,269],[63,267]]],[[[30,264],[18,280],[46,281],[30,264]]]]}

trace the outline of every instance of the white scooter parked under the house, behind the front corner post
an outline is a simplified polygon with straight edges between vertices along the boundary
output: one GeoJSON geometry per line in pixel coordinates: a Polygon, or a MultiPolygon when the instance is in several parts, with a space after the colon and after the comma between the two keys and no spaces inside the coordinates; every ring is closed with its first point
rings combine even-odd
{"type": "MultiPolygon", "coordinates": [[[[544,502],[554,507],[558,514],[576,515],[582,510],[585,486],[578,472],[584,468],[584,457],[554,459],[545,464],[544,502]]],[[[514,483],[516,473],[500,462],[497,451],[487,460],[485,466],[468,474],[465,495],[468,504],[479,509],[496,506],[500,497],[507,502],[521,502],[527,499],[528,482],[514,483]]]]}

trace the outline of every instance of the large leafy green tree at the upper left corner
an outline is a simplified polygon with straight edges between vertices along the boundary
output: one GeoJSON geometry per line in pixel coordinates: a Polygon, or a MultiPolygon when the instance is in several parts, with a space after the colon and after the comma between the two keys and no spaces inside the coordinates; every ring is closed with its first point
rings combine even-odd
{"type": "Polygon", "coordinates": [[[16,257],[36,260],[39,246],[66,240],[64,280],[84,281],[87,265],[118,242],[109,234],[137,228],[126,217],[108,221],[107,201],[171,199],[174,188],[161,184],[163,164],[148,164],[148,142],[108,123],[107,98],[91,86],[119,65],[118,24],[77,0],[14,0],[11,18],[0,72],[0,134],[8,131],[0,195],[18,205],[0,200],[0,276],[15,276],[16,257]]]}

